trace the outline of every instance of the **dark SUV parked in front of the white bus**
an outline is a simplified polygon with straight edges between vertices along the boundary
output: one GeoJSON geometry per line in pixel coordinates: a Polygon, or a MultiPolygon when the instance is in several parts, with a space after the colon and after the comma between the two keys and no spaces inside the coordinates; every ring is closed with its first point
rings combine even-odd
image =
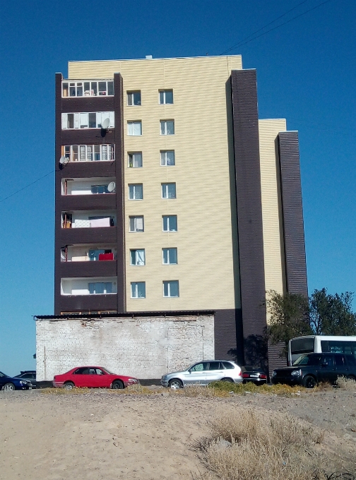
{"type": "Polygon", "coordinates": [[[272,383],[303,385],[314,388],[319,382],[336,383],[338,377],[356,380],[356,359],[347,354],[306,354],[292,366],[276,368],[272,383]]]}

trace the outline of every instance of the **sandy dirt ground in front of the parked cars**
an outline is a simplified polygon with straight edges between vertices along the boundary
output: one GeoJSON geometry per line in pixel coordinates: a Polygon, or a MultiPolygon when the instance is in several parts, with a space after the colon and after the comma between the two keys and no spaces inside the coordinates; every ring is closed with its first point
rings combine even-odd
{"type": "MultiPolygon", "coordinates": [[[[162,390],[163,392],[163,390],[162,390]]],[[[322,448],[356,469],[356,392],[201,398],[0,391],[0,479],[182,480],[203,472],[193,448],[218,409],[287,412],[325,429],[322,448]]]]}

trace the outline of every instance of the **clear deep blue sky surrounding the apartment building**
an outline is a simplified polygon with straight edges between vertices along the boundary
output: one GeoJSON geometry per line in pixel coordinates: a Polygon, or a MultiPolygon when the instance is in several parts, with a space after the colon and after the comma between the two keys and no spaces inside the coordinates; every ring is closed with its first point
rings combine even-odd
{"type": "MultiPolygon", "coordinates": [[[[1,200],[54,169],[54,73],[70,60],[221,54],[300,3],[1,3],[1,371],[35,368],[32,316],[53,313],[54,174],[1,200]]],[[[355,1],[330,0],[230,52],[257,69],[260,118],[299,131],[310,292],[356,291],[355,20],[355,1]]]]}

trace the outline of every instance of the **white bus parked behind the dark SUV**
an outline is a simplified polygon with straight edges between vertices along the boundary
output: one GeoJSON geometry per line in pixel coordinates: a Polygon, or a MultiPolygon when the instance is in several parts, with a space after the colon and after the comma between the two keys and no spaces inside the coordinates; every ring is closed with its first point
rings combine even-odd
{"type": "Polygon", "coordinates": [[[352,354],[356,358],[356,337],[307,335],[292,338],[288,343],[288,365],[294,364],[302,354],[321,352],[352,354]]]}

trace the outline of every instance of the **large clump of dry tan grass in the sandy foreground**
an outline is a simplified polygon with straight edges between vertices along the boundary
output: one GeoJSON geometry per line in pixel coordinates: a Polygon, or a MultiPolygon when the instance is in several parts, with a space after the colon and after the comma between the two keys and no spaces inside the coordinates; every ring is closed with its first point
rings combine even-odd
{"type": "Polygon", "coordinates": [[[322,434],[287,414],[252,409],[221,412],[210,421],[212,434],[198,443],[208,468],[202,479],[325,479],[325,458],[316,449],[322,434]]]}

